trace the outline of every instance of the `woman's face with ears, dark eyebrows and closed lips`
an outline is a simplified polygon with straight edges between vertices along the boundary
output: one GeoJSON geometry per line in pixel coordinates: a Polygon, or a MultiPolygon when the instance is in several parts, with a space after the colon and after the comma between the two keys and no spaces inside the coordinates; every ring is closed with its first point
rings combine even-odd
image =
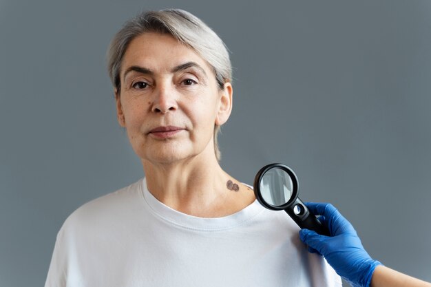
{"type": "Polygon", "coordinates": [[[169,163],[214,154],[214,125],[231,112],[230,83],[170,35],[145,33],[127,48],[116,92],[117,116],[141,160],[169,163]]]}

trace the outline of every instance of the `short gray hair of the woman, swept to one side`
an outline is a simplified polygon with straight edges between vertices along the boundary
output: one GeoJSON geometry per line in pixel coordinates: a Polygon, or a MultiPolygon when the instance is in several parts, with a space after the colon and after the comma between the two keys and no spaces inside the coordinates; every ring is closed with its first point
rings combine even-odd
{"type": "MultiPolygon", "coordinates": [[[[207,61],[215,74],[218,87],[232,81],[232,66],[229,52],[222,39],[202,20],[193,14],[179,9],[149,11],[138,14],[123,25],[112,39],[107,51],[108,73],[112,85],[120,91],[120,69],[123,56],[129,43],[145,32],[170,34],[175,39],[191,47],[204,61],[207,61]]],[[[214,126],[215,156],[220,160],[218,134],[220,126],[214,126]]]]}

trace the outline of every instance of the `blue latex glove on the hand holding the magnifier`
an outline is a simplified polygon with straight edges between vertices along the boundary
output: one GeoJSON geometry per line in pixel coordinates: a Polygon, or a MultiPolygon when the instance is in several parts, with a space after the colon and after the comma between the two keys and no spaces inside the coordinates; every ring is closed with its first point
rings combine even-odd
{"type": "Polygon", "coordinates": [[[308,229],[299,231],[299,237],[308,245],[308,251],[325,257],[337,274],[352,286],[369,287],[372,273],[381,263],[365,251],[352,224],[332,204],[308,202],[306,206],[315,215],[322,215],[319,221],[331,235],[319,235],[308,229]]]}

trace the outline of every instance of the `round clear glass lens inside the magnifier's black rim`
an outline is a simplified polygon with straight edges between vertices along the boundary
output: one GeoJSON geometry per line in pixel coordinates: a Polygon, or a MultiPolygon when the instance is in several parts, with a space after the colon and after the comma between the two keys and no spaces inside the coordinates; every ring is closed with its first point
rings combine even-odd
{"type": "Polygon", "coordinates": [[[291,176],[277,167],[269,169],[260,180],[260,194],[266,203],[273,206],[286,204],[293,194],[291,176]]]}

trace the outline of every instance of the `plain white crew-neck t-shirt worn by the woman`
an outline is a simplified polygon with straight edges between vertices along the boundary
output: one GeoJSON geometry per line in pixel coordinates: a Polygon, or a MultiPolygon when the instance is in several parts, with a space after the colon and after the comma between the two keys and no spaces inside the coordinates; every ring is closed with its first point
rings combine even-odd
{"type": "Polygon", "coordinates": [[[341,286],[298,231],[286,213],[257,201],[226,217],[180,213],[143,179],[67,218],[45,287],[341,286]]]}

